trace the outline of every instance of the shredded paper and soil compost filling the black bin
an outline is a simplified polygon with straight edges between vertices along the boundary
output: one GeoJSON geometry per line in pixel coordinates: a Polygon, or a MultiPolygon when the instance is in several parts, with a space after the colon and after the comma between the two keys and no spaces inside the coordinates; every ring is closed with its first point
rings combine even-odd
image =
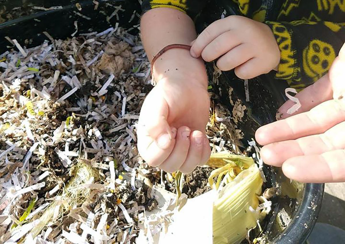
{"type": "MultiPolygon", "coordinates": [[[[136,148],[152,88],[140,39],[118,26],[67,40],[44,34],[30,49],[7,38],[12,50],[0,55],[0,243],[136,243],[176,200],[174,174],[148,167],[136,148]],[[157,192],[169,196],[165,208],[157,192]]],[[[232,118],[211,89],[212,152],[243,154],[235,122],[245,106],[232,118]]],[[[211,171],[185,175],[182,193],[208,191],[211,171]]]]}

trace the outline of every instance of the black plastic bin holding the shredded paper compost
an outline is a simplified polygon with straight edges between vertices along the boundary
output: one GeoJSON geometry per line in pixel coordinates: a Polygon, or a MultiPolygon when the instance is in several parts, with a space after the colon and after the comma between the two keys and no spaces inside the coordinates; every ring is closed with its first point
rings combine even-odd
{"type": "MultiPolygon", "coordinates": [[[[116,22],[122,27],[131,28],[132,34],[138,33],[137,28],[132,28],[139,21],[135,14],[140,14],[138,0],[98,2],[98,9],[94,10],[92,0],[0,0],[0,53],[13,48],[4,38],[6,36],[17,39],[21,44],[25,43],[27,47],[33,47],[47,39],[42,34],[43,31],[48,31],[53,38],[70,37],[75,31],[75,21],[78,21],[78,33],[99,32],[115,26],[116,22]],[[81,10],[77,9],[76,3],[80,4],[81,10]],[[107,19],[114,12],[114,6],[120,5],[125,11],[118,12],[118,19],[116,16],[107,19]],[[33,8],[34,6],[44,7],[46,10],[33,8]],[[47,10],[54,6],[62,8],[47,10]]],[[[272,79],[269,79],[270,82],[263,82],[263,77],[250,80],[251,102],[246,102],[243,81],[233,77],[231,73],[223,73],[215,88],[221,91],[221,101],[230,111],[230,99],[240,99],[248,108],[245,112],[246,119],[239,124],[239,129],[245,132],[245,144],[246,140],[253,137],[259,125],[275,120],[276,109],[284,102],[283,91],[286,84],[272,79]],[[230,86],[233,89],[231,98],[228,95],[230,86]]],[[[280,169],[273,167],[266,167],[265,174],[269,179],[266,186],[277,187],[279,193],[273,199],[273,211],[263,226],[267,243],[304,243],[321,209],[324,185],[290,182],[280,169]]]]}

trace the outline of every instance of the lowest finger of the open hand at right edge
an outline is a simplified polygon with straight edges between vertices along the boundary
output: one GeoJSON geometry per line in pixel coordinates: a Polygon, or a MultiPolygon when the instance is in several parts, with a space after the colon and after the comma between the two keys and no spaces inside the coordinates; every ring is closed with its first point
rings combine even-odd
{"type": "Polygon", "coordinates": [[[288,178],[305,183],[344,182],[345,150],[293,157],[284,162],[283,172],[288,178]]]}

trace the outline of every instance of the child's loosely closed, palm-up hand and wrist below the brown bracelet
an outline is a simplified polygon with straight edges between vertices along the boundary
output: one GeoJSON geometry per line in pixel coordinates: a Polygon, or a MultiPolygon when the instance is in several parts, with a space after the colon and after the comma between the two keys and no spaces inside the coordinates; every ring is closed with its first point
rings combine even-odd
{"type": "Polygon", "coordinates": [[[189,51],[172,49],[155,62],[157,85],[142,105],[138,150],[150,166],[189,173],[210,156],[206,69],[189,51]]]}

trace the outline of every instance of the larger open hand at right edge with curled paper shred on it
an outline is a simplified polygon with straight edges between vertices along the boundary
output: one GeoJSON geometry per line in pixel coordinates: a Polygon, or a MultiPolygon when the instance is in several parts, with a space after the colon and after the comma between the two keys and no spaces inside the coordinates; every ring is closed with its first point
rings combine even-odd
{"type": "Polygon", "coordinates": [[[279,109],[281,120],[256,132],[264,162],[282,166],[290,179],[345,181],[345,45],[342,50],[329,74],[296,95],[297,114],[286,113],[288,101],[279,109]]]}

